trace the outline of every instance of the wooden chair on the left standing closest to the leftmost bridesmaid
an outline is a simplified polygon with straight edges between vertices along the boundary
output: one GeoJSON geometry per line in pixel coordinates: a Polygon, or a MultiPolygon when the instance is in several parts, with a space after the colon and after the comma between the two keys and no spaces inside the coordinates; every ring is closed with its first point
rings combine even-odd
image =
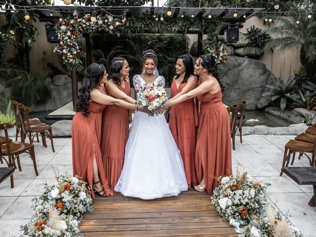
{"type": "Polygon", "coordinates": [[[51,148],[53,152],[54,150],[54,143],[53,143],[53,134],[52,134],[52,127],[47,125],[46,123],[39,123],[39,124],[31,124],[29,113],[32,111],[29,107],[22,107],[21,105],[18,105],[17,107],[19,109],[19,117],[20,121],[26,121],[25,123],[22,123],[22,142],[25,141],[26,136],[28,136],[30,143],[33,144],[33,140],[36,135],[40,133],[43,146],[47,148],[46,144],[46,136],[50,139],[51,148]],[[35,133],[34,135],[32,135],[35,133]]]}

